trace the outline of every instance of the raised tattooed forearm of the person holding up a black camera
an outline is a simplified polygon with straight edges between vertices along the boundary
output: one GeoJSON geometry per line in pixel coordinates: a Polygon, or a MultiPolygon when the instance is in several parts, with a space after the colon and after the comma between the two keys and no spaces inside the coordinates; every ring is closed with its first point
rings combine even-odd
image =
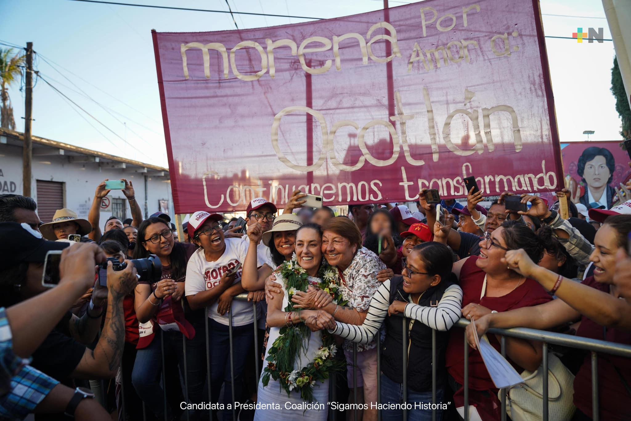
{"type": "Polygon", "coordinates": [[[83,358],[74,368],[75,379],[95,379],[114,377],[121,365],[121,355],[125,343],[125,317],[122,302],[131,294],[138,278],[136,268],[126,260],[127,268],[122,271],[112,270],[112,263],[107,264],[107,313],[101,337],[94,350],[86,349],[83,358]]]}

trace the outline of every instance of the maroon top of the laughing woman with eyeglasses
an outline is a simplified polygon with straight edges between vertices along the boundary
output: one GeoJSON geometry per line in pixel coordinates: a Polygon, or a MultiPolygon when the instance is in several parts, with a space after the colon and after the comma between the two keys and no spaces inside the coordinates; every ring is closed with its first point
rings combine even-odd
{"type": "MultiPolygon", "coordinates": [[[[463,308],[473,302],[483,305],[488,309],[498,312],[519,309],[521,307],[531,307],[532,305],[543,304],[551,300],[546,290],[538,282],[527,278],[519,287],[502,297],[482,297],[482,285],[484,283],[485,272],[476,266],[478,256],[471,256],[463,264],[460,271],[460,287],[463,288],[463,308]]],[[[488,335],[488,341],[500,352],[500,343],[495,335],[488,335]]],[[[451,329],[449,345],[447,345],[447,371],[460,384],[464,383],[464,333],[462,329],[451,329]]],[[[518,372],[523,371],[521,367],[507,360],[518,372]]],[[[487,367],[484,364],[480,352],[469,348],[469,388],[475,390],[496,389],[487,367]]]]}

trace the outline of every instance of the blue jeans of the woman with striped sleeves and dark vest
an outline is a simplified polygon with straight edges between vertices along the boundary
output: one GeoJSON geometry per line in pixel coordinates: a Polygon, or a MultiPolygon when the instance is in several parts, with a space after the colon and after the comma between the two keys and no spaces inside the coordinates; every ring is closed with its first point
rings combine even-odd
{"type": "MultiPolygon", "coordinates": [[[[443,389],[436,390],[436,403],[442,403],[443,389]]],[[[432,421],[432,410],[414,408],[415,403],[432,403],[432,392],[416,392],[408,388],[408,403],[412,409],[408,410],[408,421],[432,421]]],[[[385,374],[381,374],[381,403],[404,403],[403,385],[393,382],[385,374]]],[[[442,410],[436,410],[436,420],[440,421],[442,410]]],[[[403,409],[381,410],[383,421],[399,421],[403,419],[403,409]]]]}

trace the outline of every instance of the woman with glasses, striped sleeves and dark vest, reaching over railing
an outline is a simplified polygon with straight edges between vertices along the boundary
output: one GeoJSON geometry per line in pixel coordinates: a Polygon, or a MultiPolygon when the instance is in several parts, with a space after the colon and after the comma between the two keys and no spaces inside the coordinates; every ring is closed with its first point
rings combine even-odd
{"type": "MultiPolygon", "coordinates": [[[[444,244],[425,242],[413,247],[403,259],[403,276],[382,283],[370,301],[368,315],[361,326],[336,322],[331,331],[350,341],[369,343],[386,324],[386,338],[381,348],[381,400],[383,404],[405,403],[403,396],[403,326],[408,317],[408,403],[432,402],[432,329],[436,335],[436,400],[442,401],[447,385],[445,350],[447,331],[461,316],[463,291],[451,273],[452,252],[444,244]]],[[[436,419],[442,412],[437,410],[436,419]]],[[[383,420],[400,420],[403,410],[382,410],[383,420]]],[[[415,408],[408,419],[431,420],[432,410],[415,408]]]]}

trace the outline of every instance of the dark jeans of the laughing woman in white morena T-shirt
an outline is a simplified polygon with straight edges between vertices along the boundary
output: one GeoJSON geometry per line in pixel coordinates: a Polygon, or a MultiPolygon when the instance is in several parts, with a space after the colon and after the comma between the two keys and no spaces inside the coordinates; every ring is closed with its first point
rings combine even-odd
{"type": "MultiPolygon", "coordinates": [[[[211,397],[213,402],[219,401],[221,385],[223,384],[223,400],[221,400],[221,403],[225,406],[228,403],[233,405],[234,402],[242,400],[243,369],[245,367],[245,359],[251,355],[251,349],[254,345],[254,324],[232,326],[233,380],[230,376],[230,336],[228,326],[209,319],[208,329],[210,335],[211,397]],[[232,396],[233,381],[234,396],[232,396]]],[[[223,420],[232,420],[232,410],[223,411],[223,420]]]]}

